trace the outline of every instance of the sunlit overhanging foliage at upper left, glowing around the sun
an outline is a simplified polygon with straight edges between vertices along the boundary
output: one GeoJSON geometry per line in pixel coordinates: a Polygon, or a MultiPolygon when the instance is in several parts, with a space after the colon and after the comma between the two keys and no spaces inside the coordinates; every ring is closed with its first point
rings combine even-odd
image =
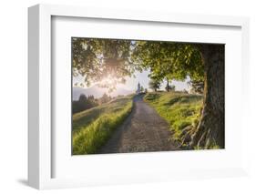
{"type": "Polygon", "coordinates": [[[111,85],[99,86],[112,91],[118,83],[125,83],[125,77],[131,77],[136,69],[129,60],[131,47],[130,40],[73,37],[73,76],[84,77],[87,86],[111,77],[114,80],[111,85]]]}

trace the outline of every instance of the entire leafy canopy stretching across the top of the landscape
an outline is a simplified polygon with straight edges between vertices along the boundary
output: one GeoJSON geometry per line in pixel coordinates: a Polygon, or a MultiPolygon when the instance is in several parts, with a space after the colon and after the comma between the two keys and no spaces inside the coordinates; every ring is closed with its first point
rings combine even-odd
{"type": "Polygon", "coordinates": [[[73,75],[84,77],[82,85],[98,83],[110,91],[135,70],[149,69],[149,77],[159,81],[204,77],[200,51],[193,44],[74,37],[72,50],[73,75]]]}

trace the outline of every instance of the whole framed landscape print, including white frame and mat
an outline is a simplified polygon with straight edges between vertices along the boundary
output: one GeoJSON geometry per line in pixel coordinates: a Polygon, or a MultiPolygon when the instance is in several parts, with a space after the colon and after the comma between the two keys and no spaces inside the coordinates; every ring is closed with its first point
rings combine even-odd
{"type": "Polygon", "coordinates": [[[247,18],[28,13],[29,185],[246,174],[247,18]]]}

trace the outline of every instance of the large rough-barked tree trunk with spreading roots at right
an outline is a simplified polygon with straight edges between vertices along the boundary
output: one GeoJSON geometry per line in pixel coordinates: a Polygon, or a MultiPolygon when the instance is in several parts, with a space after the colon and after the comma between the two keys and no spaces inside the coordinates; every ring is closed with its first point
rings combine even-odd
{"type": "Polygon", "coordinates": [[[204,101],[192,147],[224,148],[224,45],[201,45],[205,66],[204,101]]]}

